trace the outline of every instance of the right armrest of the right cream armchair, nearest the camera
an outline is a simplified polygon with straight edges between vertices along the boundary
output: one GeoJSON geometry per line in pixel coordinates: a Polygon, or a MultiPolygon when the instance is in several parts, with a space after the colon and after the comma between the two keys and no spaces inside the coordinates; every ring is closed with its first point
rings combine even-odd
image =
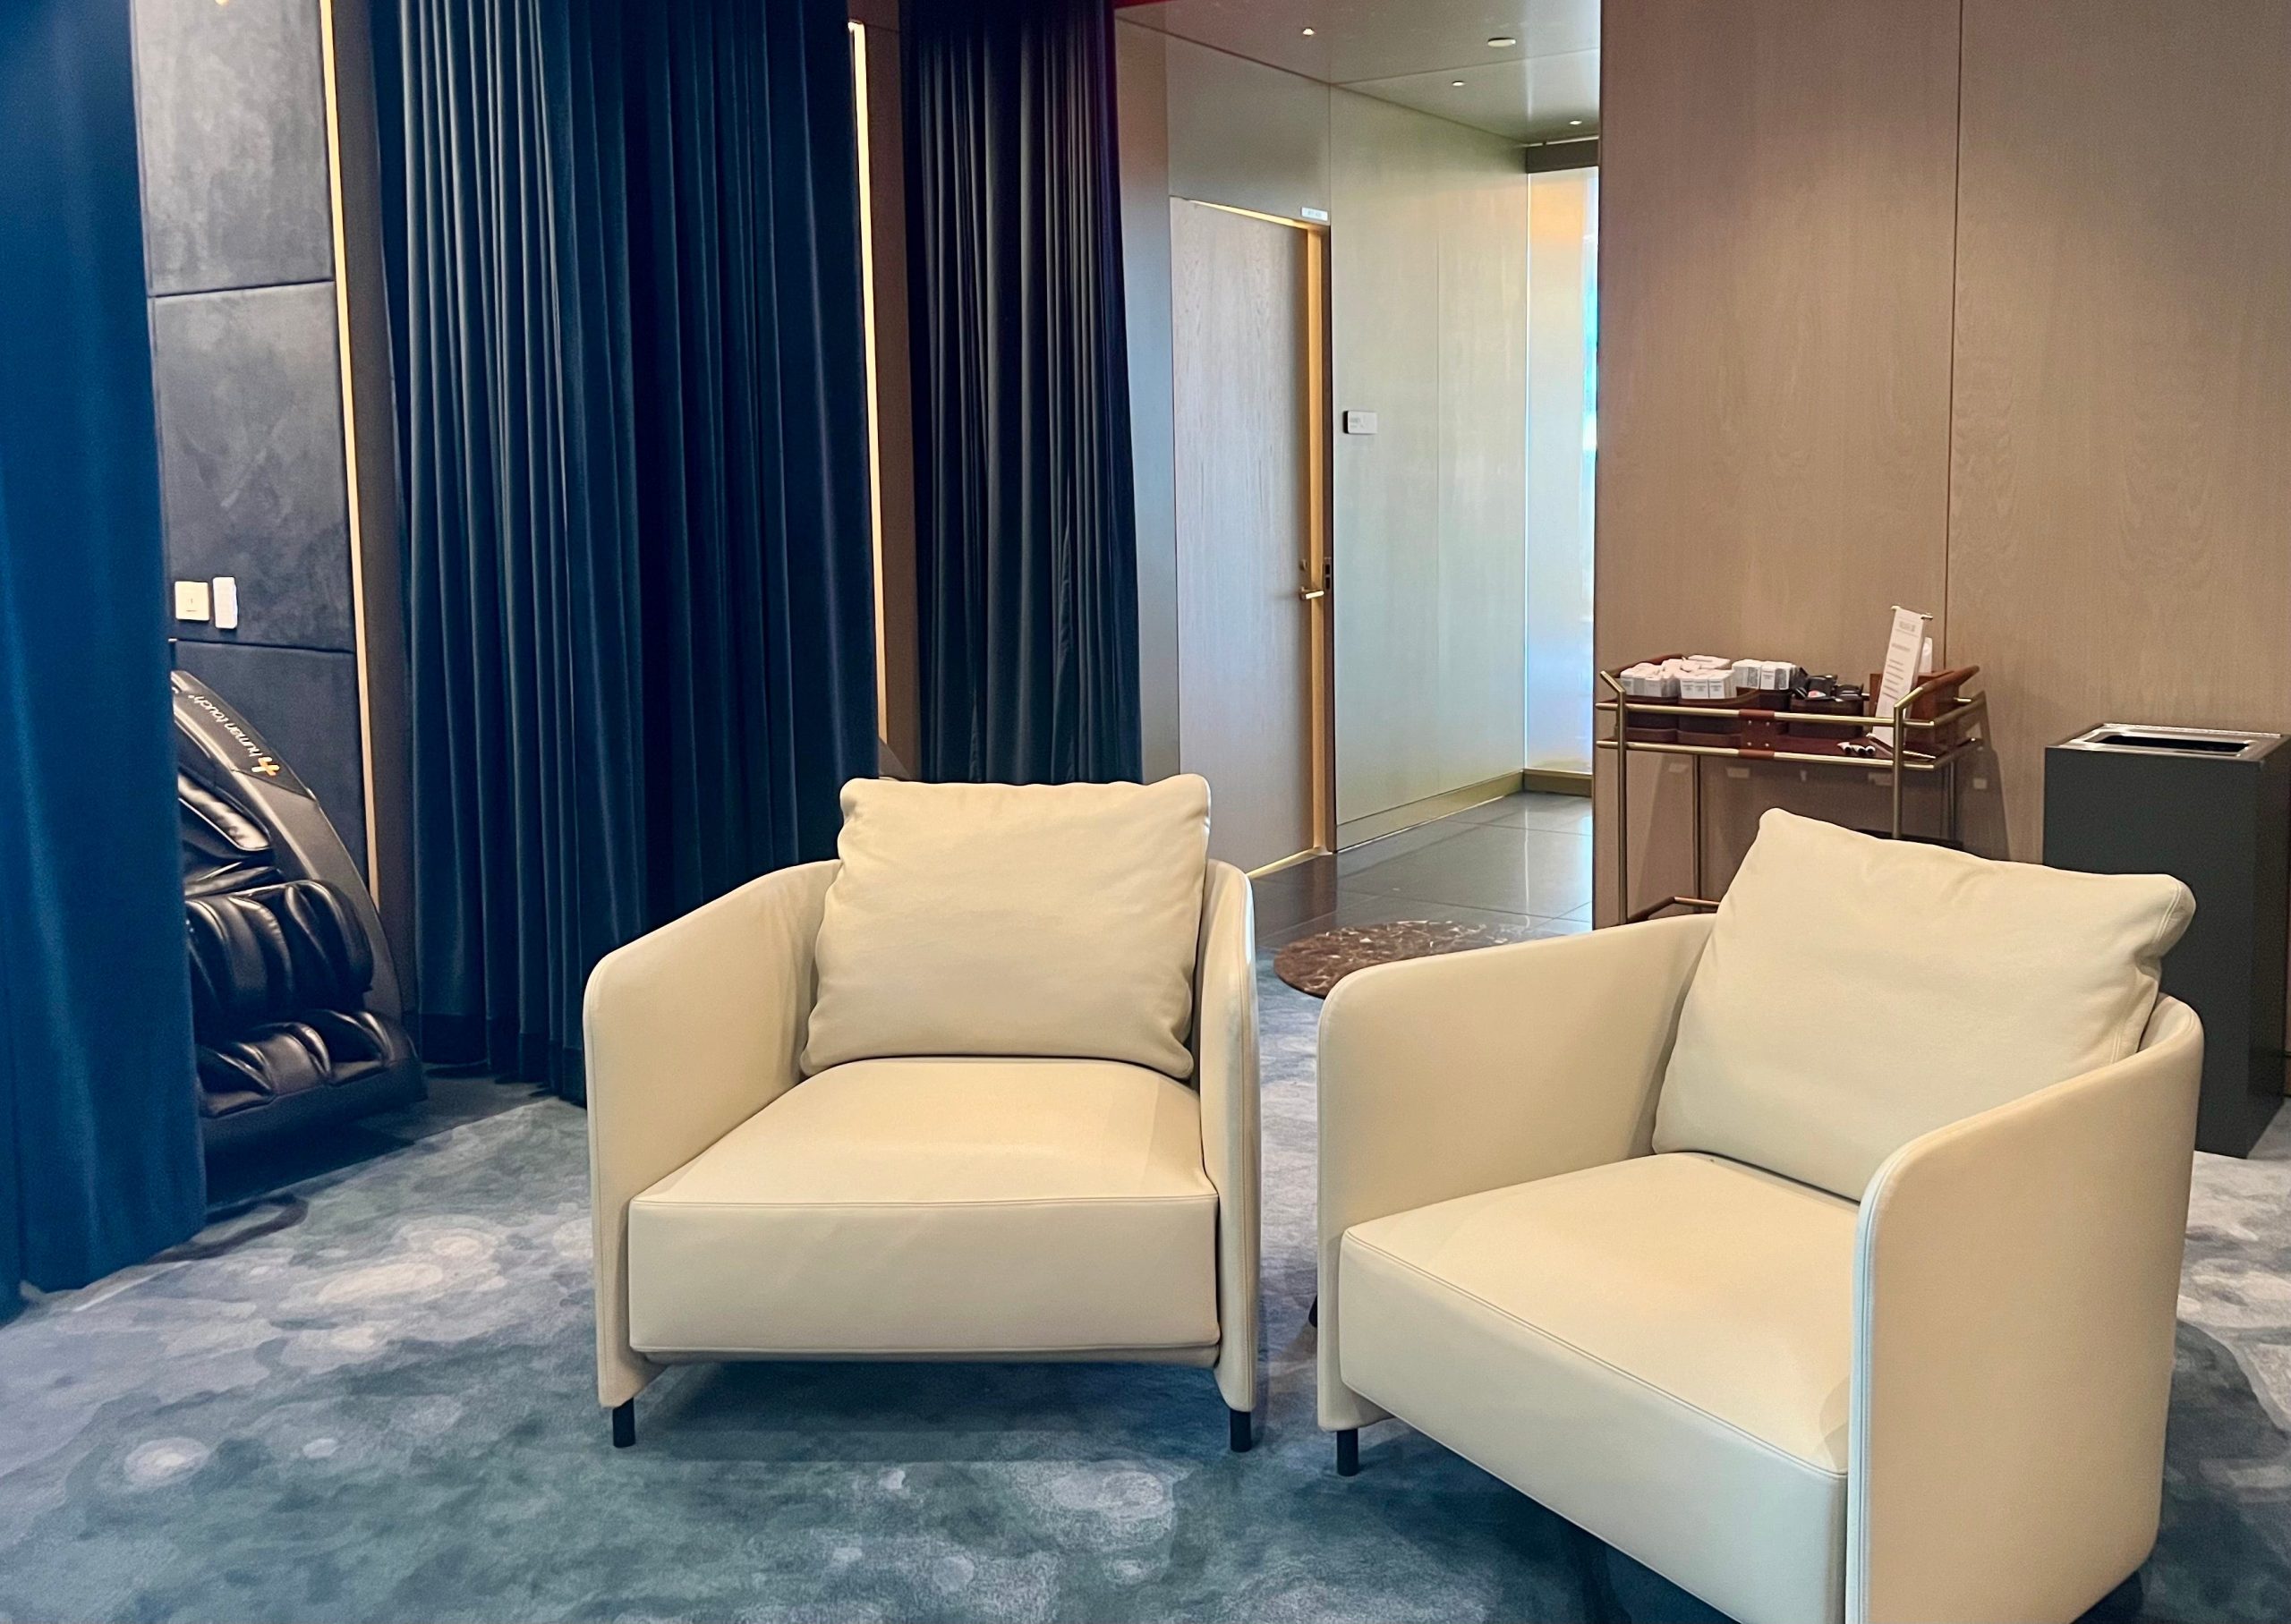
{"type": "Polygon", "coordinates": [[[2204,1028],[1924,1134],[1863,1196],[1847,1619],[2073,1619],[2147,1560],[2204,1028]]]}

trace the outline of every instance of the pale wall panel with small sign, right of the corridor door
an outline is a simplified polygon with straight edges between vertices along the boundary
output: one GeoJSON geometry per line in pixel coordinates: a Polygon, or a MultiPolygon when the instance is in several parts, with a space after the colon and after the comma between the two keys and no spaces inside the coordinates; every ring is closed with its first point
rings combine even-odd
{"type": "Polygon", "coordinates": [[[1526,760],[1528,176],[1331,96],[1338,827],[1526,760]],[[1340,421],[1340,419],[1338,419],[1340,421]]]}

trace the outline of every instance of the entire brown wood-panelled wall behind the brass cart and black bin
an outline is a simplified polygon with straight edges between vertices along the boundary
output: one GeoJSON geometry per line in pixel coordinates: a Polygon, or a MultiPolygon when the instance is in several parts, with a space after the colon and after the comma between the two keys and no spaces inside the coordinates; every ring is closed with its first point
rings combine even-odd
{"type": "MultiPolygon", "coordinates": [[[[2291,726],[2291,9],[1647,0],[1604,71],[1601,662],[1867,673],[1931,609],[1995,705],[1968,841],[2023,859],[2050,740],[2291,726]]],[[[1688,866],[1682,763],[1643,767],[1633,900],[1688,866]]],[[[1883,815],[1707,786],[1714,886],[1759,804],[1883,815]]],[[[1608,795],[1601,916],[1611,841],[1608,795]]]]}

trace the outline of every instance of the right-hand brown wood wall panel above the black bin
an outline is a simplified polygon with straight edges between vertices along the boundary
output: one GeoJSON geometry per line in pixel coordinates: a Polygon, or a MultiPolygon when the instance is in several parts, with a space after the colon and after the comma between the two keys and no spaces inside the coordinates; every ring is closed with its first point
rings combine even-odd
{"type": "Polygon", "coordinates": [[[2048,742],[2291,728],[2291,7],[1968,0],[1963,57],[1950,646],[2034,859],[2048,742]]]}

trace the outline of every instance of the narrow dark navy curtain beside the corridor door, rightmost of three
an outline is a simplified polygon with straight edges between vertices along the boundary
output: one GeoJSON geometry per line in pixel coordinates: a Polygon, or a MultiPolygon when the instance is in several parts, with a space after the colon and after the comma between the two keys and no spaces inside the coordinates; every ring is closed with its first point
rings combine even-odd
{"type": "Polygon", "coordinates": [[[1107,0],[900,21],[923,776],[1139,776],[1107,0]]]}

